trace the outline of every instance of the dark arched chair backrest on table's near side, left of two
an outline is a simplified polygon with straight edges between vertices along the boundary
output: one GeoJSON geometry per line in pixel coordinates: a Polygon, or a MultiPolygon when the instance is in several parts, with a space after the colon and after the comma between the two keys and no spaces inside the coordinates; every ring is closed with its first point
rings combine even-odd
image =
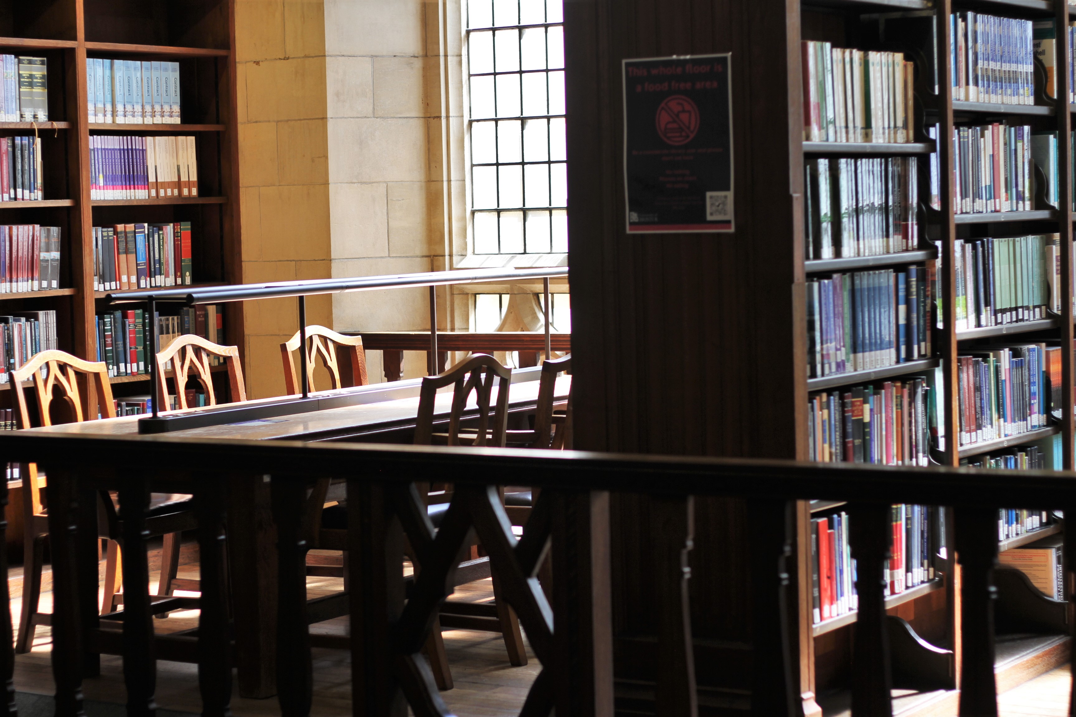
{"type": "Polygon", "coordinates": [[[512,379],[512,370],[500,364],[497,359],[485,354],[475,354],[437,376],[426,376],[422,379],[419,399],[419,419],[414,429],[415,445],[429,445],[434,442],[434,404],[437,400],[437,389],[455,385],[452,395],[452,412],[449,414],[448,445],[459,445],[459,421],[467,399],[475,392],[478,403],[478,433],[476,446],[505,445],[505,429],[508,427],[508,390],[512,379]],[[499,381],[497,389],[497,405],[491,410],[490,397],[493,385],[499,381]]]}

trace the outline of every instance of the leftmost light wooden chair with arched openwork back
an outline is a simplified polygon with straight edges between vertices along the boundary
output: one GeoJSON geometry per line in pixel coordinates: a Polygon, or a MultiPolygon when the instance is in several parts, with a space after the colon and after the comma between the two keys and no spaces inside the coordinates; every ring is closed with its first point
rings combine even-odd
{"type": "MultiPolygon", "coordinates": [[[[112,400],[112,386],[109,384],[109,370],[103,362],[84,361],[63,352],[46,350],[37,354],[11,374],[12,388],[18,406],[19,428],[29,428],[32,425],[23,387],[23,382],[30,378],[33,379],[41,426],[91,420],[95,417],[90,402],[91,393],[96,393],[100,415],[105,418],[115,418],[116,410],[112,400]],[[42,369],[44,369],[44,376],[42,376],[42,369]],[[83,386],[85,390],[83,390],[83,386]]],[[[24,465],[20,473],[23,476],[25,547],[23,611],[19,617],[16,651],[28,653],[32,646],[37,626],[51,623],[49,614],[38,612],[41,601],[44,540],[48,535],[48,513],[42,507],[43,482],[38,474],[37,464],[24,465]]],[[[184,510],[189,498],[189,496],[179,493],[153,493],[151,497],[151,512],[146,520],[146,529],[151,535],[166,535],[165,550],[161,556],[162,564],[168,560],[179,559],[179,531],[197,526],[194,513],[184,510]],[[169,542],[168,537],[172,537],[172,541],[169,542]],[[175,555],[170,556],[169,550],[175,555]]],[[[118,593],[122,582],[119,548],[123,526],[109,493],[102,492],[99,507],[104,517],[103,520],[99,521],[99,536],[109,541],[104,592],[101,600],[101,613],[104,614],[111,613],[117,602],[122,601],[118,593]]]]}

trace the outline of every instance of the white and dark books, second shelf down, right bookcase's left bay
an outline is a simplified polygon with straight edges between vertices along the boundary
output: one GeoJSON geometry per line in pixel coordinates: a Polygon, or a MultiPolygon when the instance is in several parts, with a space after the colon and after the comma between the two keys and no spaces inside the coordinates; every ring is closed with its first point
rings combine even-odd
{"type": "Polygon", "coordinates": [[[807,259],[918,248],[916,157],[809,159],[806,173],[807,259]]]}

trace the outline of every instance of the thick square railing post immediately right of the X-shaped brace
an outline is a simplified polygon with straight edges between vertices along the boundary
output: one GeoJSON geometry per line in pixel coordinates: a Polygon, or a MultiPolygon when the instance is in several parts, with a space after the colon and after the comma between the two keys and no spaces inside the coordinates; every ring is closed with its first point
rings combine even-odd
{"type": "Polygon", "coordinates": [[[557,717],[612,717],[609,493],[549,491],[554,499],[553,674],[557,717]]]}

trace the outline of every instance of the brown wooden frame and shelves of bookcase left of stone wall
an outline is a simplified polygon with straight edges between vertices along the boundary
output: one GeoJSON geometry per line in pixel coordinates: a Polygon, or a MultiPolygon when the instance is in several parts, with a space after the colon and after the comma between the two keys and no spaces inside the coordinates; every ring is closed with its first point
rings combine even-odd
{"type": "MultiPolygon", "coordinates": [[[[241,283],[231,0],[0,0],[0,53],[48,61],[51,121],[0,123],[0,137],[42,139],[45,201],[0,202],[0,224],[61,229],[60,288],[0,295],[0,314],[55,310],[59,347],[95,360],[93,227],[189,221],[195,285],[241,283]],[[99,124],[87,116],[86,61],[167,60],[180,66],[180,124],[99,124]],[[193,135],[197,198],[90,201],[91,135],[193,135]]],[[[161,313],[172,313],[165,307],[161,313]]],[[[225,307],[227,342],[243,345],[242,312],[225,307]]],[[[217,372],[220,374],[220,372],[217,372]]],[[[117,398],[146,391],[145,376],[112,379],[117,398]]],[[[227,381],[221,382],[224,388],[227,381]]],[[[0,389],[10,388],[6,385],[0,389]]],[[[220,389],[218,389],[220,390],[220,389]]]]}

